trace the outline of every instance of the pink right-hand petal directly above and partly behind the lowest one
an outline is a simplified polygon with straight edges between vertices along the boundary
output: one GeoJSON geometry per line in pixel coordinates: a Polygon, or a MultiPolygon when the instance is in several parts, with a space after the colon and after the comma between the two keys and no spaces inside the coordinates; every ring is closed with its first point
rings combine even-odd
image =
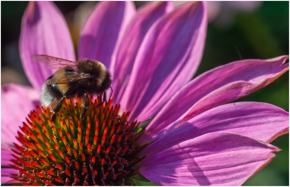
{"type": "Polygon", "coordinates": [[[289,132],[289,113],[268,103],[236,102],[218,106],[175,128],[144,149],[145,153],[166,149],[171,145],[206,133],[226,131],[263,142],[271,142],[289,132]]]}

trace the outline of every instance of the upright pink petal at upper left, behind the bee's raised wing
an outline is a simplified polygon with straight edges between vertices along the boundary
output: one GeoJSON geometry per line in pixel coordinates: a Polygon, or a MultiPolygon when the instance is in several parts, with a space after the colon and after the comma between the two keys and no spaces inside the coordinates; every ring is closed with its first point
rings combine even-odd
{"type": "Polygon", "coordinates": [[[33,61],[30,58],[32,55],[46,54],[75,60],[68,26],[54,3],[48,1],[28,3],[21,23],[19,51],[26,76],[38,90],[55,70],[33,61]]]}

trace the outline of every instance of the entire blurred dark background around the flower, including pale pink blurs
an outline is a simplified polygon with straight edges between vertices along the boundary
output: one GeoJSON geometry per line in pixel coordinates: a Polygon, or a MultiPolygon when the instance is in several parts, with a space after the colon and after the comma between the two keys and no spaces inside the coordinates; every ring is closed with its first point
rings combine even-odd
{"type": "MultiPolygon", "coordinates": [[[[148,1],[147,1],[148,2],[148,1]]],[[[135,2],[139,8],[144,1],[135,2]]],[[[19,58],[18,41],[28,2],[1,2],[1,85],[29,85],[19,58]]],[[[184,3],[174,2],[175,6],[184,3]]],[[[55,2],[68,22],[75,48],[82,25],[96,2],[55,2]]],[[[289,1],[209,1],[204,56],[195,76],[235,60],[289,54],[289,1]]],[[[289,72],[238,101],[267,102],[289,111],[289,72]]],[[[272,142],[277,157],[244,186],[289,186],[289,134],[272,142]]],[[[154,185],[136,181],[137,185],[154,185]]]]}

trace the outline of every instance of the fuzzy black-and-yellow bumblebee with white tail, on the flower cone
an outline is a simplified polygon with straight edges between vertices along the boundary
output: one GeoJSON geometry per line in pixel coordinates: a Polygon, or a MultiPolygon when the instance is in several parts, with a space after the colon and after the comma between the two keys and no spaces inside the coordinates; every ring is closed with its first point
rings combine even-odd
{"type": "Polygon", "coordinates": [[[82,119],[89,107],[89,94],[103,94],[103,101],[99,105],[106,100],[108,88],[111,88],[112,95],[110,73],[106,66],[97,60],[82,59],[74,62],[47,55],[34,55],[31,58],[48,65],[50,69],[57,69],[43,84],[40,93],[41,104],[44,107],[52,107],[54,122],[65,98],[81,98],[81,106],[84,107],[80,116],[82,119]]]}

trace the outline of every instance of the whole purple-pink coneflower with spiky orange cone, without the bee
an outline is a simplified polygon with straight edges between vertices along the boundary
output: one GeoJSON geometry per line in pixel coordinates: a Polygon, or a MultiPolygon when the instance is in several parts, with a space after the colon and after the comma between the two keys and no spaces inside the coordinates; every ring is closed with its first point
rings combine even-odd
{"type": "Polygon", "coordinates": [[[122,185],[140,172],[159,185],[243,184],[280,151],[269,143],[289,132],[289,113],[267,103],[226,103],[288,71],[288,56],[240,60],[191,80],[206,24],[204,2],[174,10],[155,2],[137,11],[129,1],[98,3],[81,31],[78,58],[109,68],[113,100],[98,106],[92,98],[84,120],[78,98],[66,100],[54,123],[49,109],[36,107],[53,71],[30,56],[76,58],[55,5],[30,2],[19,45],[33,88],[1,88],[1,183],[122,185]]]}

